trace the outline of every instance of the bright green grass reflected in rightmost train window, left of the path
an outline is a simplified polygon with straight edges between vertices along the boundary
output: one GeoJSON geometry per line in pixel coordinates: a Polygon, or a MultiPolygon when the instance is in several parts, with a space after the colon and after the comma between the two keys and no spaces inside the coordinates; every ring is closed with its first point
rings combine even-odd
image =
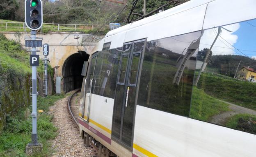
{"type": "Polygon", "coordinates": [[[196,87],[192,91],[192,102],[190,106],[190,117],[202,121],[209,121],[214,115],[229,111],[229,105],[216,100],[196,87]]]}

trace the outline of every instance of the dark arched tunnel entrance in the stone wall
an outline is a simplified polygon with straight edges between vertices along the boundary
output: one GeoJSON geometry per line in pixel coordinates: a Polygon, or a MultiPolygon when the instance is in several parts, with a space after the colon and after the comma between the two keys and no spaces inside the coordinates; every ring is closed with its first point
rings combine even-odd
{"type": "Polygon", "coordinates": [[[78,51],[69,56],[62,67],[63,91],[65,93],[82,87],[82,67],[89,56],[85,51],[78,51]]]}

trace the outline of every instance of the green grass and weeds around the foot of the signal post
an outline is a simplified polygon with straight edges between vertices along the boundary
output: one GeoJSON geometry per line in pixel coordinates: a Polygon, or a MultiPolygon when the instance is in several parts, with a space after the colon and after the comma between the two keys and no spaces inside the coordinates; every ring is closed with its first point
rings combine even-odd
{"type": "MultiPolygon", "coordinates": [[[[53,115],[48,115],[50,106],[65,95],[53,95],[47,98],[38,97],[38,109],[44,113],[38,114],[37,129],[38,140],[43,144],[43,152],[33,157],[50,157],[53,148],[50,139],[54,139],[58,133],[53,125],[53,115]]],[[[32,118],[30,108],[21,108],[13,117],[7,117],[7,125],[0,135],[0,157],[26,157],[25,147],[31,142],[32,118]]]]}

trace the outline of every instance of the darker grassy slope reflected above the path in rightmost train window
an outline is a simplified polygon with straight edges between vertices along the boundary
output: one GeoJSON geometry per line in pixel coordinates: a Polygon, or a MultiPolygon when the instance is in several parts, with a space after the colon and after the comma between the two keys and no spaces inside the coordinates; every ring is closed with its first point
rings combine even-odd
{"type": "Polygon", "coordinates": [[[203,73],[198,88],[215,98],[256,110],[256,84],[203,73]]]}

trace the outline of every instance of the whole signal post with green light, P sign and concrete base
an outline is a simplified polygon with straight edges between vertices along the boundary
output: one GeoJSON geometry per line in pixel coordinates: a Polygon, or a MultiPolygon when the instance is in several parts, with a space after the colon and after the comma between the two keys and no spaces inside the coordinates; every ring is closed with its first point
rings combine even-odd
{"type": "Polygon", "coordinates": [[[43,25],[43,6],[41,0],[25,0],[25,24],[31,30],[31,40],[25,41],[26,47],[31,47],[30,66],[32,66],[32,136],[31,143],[27,144],[26,153],[32,155],[42,150],[42,144],[37,137],[37,66],[39,55],[37,47],[42,47],[42,40],[36,40],[37,30],[43,25]]]}

